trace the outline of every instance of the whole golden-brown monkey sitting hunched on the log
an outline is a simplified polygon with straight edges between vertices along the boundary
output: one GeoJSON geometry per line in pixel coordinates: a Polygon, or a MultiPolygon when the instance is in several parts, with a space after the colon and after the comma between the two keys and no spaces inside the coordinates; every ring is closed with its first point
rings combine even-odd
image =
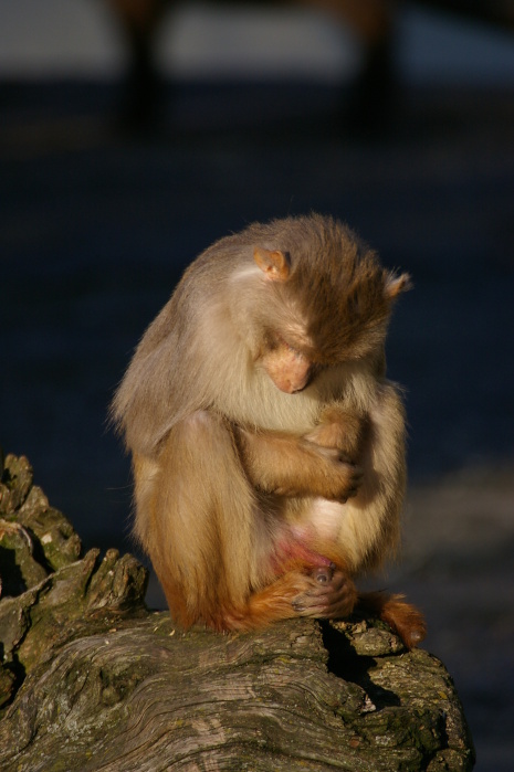
{"type": "Polygon", "coordinates": [[[399,537],[405,419],[384,348],[408,286],[318,214],[250,225],[186,271],[113,402],[135,533],[177,623],[244,631],[358,606],[422,639],[401,596],[354,584],[399,537]]]}

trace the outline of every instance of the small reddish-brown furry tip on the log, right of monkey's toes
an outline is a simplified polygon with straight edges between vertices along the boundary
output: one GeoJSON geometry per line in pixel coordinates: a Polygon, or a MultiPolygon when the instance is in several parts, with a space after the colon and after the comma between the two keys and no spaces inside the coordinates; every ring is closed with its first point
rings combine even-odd
{"type": "Polygon", "coordinates": [[[407,648],[415,648],[427,635],[427,624],[422,613],[405,595],[389,595],[387,592],[359,593],[354,612],[361,612],[386,622],[398,633],[407,648]]]}

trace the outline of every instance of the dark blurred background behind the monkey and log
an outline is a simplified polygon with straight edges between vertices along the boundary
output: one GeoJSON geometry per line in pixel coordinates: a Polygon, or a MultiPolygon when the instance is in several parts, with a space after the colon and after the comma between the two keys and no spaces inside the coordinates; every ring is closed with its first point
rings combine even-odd
{"type": "Polygon", "coordinates": [[[0,4],[3,450],[86,548],[135,551],[106,415],[145,327],[213,240],[348,222],[415,282],[406,550],[375,585],[426,611],[479,772],[514,759],[513,6],[0,4]]]}

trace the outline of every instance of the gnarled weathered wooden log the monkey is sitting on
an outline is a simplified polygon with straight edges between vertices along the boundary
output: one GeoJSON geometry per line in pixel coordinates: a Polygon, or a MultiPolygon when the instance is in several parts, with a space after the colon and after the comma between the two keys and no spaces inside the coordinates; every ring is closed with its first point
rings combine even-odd
{"type": "Polygon", "coordinates": [[[146,570],[92,550],[32,484],[0,485],[0,769],[471,770],[444,666],[384,624],[292,621],[182,633],[146,570]]]}

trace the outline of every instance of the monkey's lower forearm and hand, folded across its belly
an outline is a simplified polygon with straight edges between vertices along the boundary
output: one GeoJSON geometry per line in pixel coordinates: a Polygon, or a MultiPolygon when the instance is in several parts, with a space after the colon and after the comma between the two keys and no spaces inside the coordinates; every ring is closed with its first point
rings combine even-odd
{"type": "Polygon", "coordinates": [[[361,469],[337,447],[282,432],[235,427],[241,462],[251,483],[281,496],[346,500],[358,490],[361,469]]]}

